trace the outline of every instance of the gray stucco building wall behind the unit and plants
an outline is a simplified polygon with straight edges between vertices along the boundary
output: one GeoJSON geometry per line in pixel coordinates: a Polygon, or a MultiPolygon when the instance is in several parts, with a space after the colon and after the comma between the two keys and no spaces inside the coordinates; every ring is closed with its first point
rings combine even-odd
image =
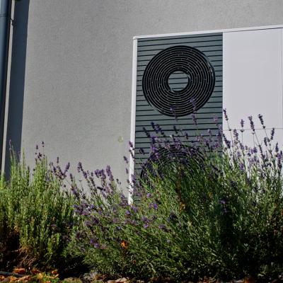
{"type": "Polygon", "coordinates": [[[20,58],[11,77],[20,74],[10,85],[7,140],[28,163],[43,140],[47,156],[73,171],[78,161],[90,170],[109,163],[122,180],[134,35],[283,23],[282,0],[22,0],[15,11],[13,33],[24,38],[19,23],[28,19],[28,37],[26,54],[25,42],[13,44],[12,63],[20,58]]]}

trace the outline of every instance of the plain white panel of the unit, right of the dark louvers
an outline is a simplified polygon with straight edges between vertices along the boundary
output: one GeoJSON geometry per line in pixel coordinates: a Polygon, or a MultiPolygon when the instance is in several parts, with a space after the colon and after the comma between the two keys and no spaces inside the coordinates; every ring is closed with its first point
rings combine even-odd
{"type": "MultiPolygon", "coordinates": [[[[272,127],[279,128],[277,140],[281,143],[282,29],[224,33],[223,64],[223,104],[231,129],[238,129],[242,118],[249,129],[249,115],[253,116],[255,127],[262,128],[258,120],[260,113],[267,132],[272,127]]],[[[245,139],[253,144],[252,134],[246,132],[245,139]]]]}

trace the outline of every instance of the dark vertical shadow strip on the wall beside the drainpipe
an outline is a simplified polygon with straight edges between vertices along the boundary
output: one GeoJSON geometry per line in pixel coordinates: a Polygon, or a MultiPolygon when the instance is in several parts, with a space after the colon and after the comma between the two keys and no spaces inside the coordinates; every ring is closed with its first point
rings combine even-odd
{"type": "Polygon", "coordinates": [[[23,96],[25,90],[25,57],[28,35],[28,9],[30,0],[15,1],[13,13],[13,38],[6,134],[5,174],[9,176],[9,141],[16,152],[21,151],[23,125],[23,96]]]}

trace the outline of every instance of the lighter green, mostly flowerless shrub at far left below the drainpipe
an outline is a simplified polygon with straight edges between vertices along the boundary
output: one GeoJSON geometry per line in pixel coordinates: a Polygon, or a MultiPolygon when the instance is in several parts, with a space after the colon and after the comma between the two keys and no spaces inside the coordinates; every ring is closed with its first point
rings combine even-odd
{"type": "Polygon", "coordinates": [[[61,263],[76,224],[74,197],[62,190],[68,169],[69,164],[61,175],[55,174],[45,155],[37,151],[30,172],[24,158],[18,161],[11,151],[11,177],[6,182],[2,177],[0,183],[1,266],[54,267],[61,263]]]}

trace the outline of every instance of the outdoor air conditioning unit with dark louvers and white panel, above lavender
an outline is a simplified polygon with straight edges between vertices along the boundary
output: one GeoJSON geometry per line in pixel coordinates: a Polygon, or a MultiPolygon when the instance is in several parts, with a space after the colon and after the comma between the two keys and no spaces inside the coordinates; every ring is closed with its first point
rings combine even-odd
{"type": "MultiPolygon", "coordinates": [[[[191,118],[192,100],[197,108],[198,128],[216,131],[213,117],[222,123],[223,108],[232,129],[248,115],[265,118],[267,131],[276,128],[282,141],[282,28],[270,26],[196,33],[134,37],[132,73],[131,141],[135,157],[144,161],[150,155],[150,141],[144,128],[153,131],[158,123],[167,136],[176,124],[195,134],[191,118]],[[139,149],[146,151],[139,154],[139,149]]],[[[260,123],[255,122],[263,135],[260,123]]],[[[224,122],[224,131],[227,126],[224,122]]],[[[246,131],[244,141],[253,143],[246,131]]],[[[140,164],[130,162],[130,174],[140,164]]]]}

